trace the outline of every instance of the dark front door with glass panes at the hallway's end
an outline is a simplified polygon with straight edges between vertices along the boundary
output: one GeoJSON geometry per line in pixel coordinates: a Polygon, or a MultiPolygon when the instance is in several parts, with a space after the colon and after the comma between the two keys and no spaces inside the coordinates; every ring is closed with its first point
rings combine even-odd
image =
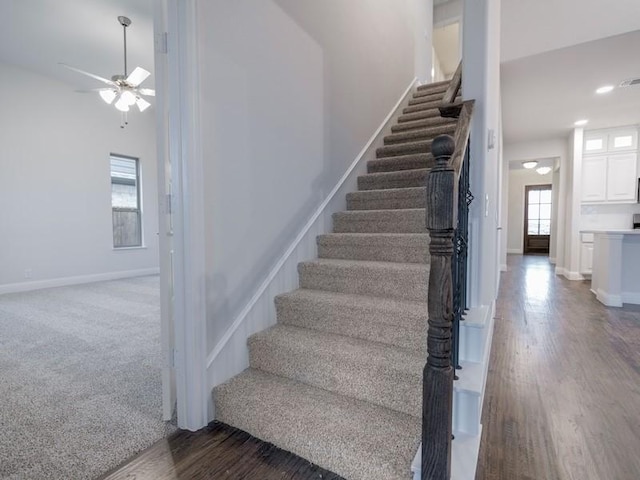
{"type": "Polygon", "coordinates": [[[551,185],[527,185],[524,195],[524,254],[549,254],[551,185]]]}

